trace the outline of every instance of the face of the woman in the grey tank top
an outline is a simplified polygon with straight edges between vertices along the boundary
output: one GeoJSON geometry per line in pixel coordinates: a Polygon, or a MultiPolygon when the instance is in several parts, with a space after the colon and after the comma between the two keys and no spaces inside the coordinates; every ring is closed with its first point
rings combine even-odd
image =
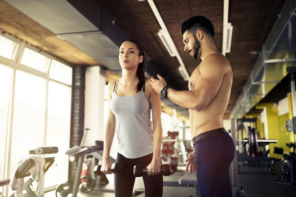
{"type": "Polygon", "coordinates": [[[139,57],[137,45],[133,42],[123,42],[119,48],[119,63],[122,69],[137,68],[143,62],[143,56],[139,57]]]}

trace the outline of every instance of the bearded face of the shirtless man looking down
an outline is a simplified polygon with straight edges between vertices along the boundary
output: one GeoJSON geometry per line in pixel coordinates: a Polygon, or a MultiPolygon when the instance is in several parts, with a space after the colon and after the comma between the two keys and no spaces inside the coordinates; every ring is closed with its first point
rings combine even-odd
{"type": "Polygon", "coordinates": [[[200,42],[195,35],[186,31],[183,34],[183,42],[185,44],[184,51],[187,51],[187,53],[189,53],[189,55],[192,56],[193,59],[197,59],[200,57],[200,42]]]}

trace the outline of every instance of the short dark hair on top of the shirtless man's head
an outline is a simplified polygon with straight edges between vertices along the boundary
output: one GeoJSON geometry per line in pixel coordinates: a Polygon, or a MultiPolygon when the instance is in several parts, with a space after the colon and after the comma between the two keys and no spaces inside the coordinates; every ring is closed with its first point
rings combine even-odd
{"type": "Polygon", "coordinates": [[[188,20],[184,21],[181,26],[181,34],[183,35],[186,31],[193,35],[196,34],[197,30],[201,30],[214,39],[214,26],[211,21],[204,16],[193,16],[188,20]]]}

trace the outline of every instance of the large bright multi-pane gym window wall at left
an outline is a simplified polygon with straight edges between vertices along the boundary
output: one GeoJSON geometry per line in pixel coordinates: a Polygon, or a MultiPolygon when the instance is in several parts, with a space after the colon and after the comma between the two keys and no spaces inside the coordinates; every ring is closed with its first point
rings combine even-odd
{"type": "Polygon", "coordinates": [[[0,179],[9,178],[29,150],[57,146],[44,179],[50,190],[68,180],[72,67],[7,33],[0,46],[0,179]]]}

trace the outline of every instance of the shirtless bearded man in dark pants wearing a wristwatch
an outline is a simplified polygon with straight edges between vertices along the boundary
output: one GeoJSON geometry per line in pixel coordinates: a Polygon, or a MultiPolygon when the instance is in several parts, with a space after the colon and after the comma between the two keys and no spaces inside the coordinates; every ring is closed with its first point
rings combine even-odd
{"type": "Polygon", "coordinates": [[[201,58],[189,79],[189,91],[177,91],[166,81],[151,77],[154,91],[189,109],[190,131],[194,151],[186,165],[195,172],[201,197],[232,197],[229,167],[234,157],[234,143],[223,128],[223,114],[228,105],[232,69],[216,48],[214,27],[203,16],[186,20],[181,27],[184,50],[201,58]]]}

